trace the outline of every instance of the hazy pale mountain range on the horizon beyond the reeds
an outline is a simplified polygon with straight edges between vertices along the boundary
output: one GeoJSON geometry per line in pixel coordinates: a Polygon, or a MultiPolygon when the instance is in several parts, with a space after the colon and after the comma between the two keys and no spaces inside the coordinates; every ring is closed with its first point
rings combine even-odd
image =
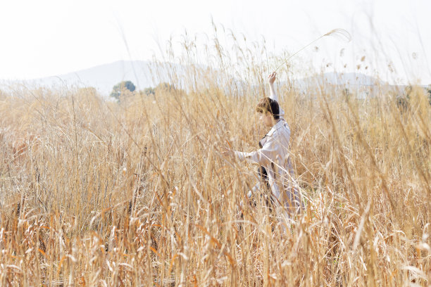
{"type": "MultiPolygon", "coordinates": [[[[206,69],[205,67],[201,67],[206,69]]],[[[212,70],[217,75],[218,70],[212,70]]],[[[221,72],[223,73],[223,72],[221,72]]],[[[15,83],[25,84],[27,87],[94,87],[101,96],[108,96],[115,84],[121,81],[132,81],[137,89],[154,87],[160,82],[170,82],[169,75],[175,74],[175,82],[182,82],[187,78],[187,67],[171,63],[154,63],[142,60],[118,60],[105,65],[98,65],[93,68],[70,72],[64,75],[44,77],[26,81],[15,81],[15,83]]],[[[8,84],[11,84],[10,82],[8,84]]],[[[13,83],[12,83],[13,84],[13,83]]],[[[221,83],[220,83],[221,84],[221,83]]],[[[225,83],[226,84],[226,83],[225,83]]],[[[224,84],[224,85],[225,85],[224,84]]],[[[232,87],[242,88],[248,84],[240,79],[231,82],[232,87]]],[[[287,84],[280,81],[278,84],[287,84]]],[[[346,87],[364,87],[382,84],[378,79],[363,75],[361,73],[338,73],[328,72],[302,79],[294,79],[292,84],[301,90],[316,87],[316,85],[342,85],[346,87]]],[[[251,87],[256,87],[252,85],[251,87]]],[[[232,89],[227,89],[226,91],[232,89]]]]}

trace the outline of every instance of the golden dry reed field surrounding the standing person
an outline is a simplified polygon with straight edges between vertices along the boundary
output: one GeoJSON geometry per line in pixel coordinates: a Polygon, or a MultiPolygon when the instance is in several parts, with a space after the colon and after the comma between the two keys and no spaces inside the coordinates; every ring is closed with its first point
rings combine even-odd
{"type": "Polygon", "coordinates": [[[280,70],[306,198],[286,224],[259,200],[241,204],[256,167],[220,153],[256,150],[267,132],[255,113],[266,51],[215,39],[204,68],[183,44],[166,60],[187,69],[161,63],[175,88],[154,96],[1,92],[1,286],[430,286],[423,89],[401,106],[385,89],[358,100],[321,82],[304,94],[280,70]]]}

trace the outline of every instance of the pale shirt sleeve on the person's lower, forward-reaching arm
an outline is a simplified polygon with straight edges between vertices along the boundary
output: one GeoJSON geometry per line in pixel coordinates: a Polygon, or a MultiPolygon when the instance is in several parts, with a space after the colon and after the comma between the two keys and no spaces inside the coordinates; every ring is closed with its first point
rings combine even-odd
{"type": "Polygon", "coordinates": [[[268,166],[271,162],[275,162],[277,155],[280,154],[280,144],[275,140],[274,136],[268,137],[268,140],[262,148],[251,153],[235,151],[235,155],[240,161],[248,161],[257,163],[258,165],[268,166]]]}

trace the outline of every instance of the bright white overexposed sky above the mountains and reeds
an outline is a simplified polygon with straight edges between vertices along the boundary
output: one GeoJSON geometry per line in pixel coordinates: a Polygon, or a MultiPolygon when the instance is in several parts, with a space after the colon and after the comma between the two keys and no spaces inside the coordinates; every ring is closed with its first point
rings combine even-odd
{"type": "Polygon", "coordinates": [[[172,36],[210,34],[216,24],[268,51],[294,52],[341,27],[349,44],[324,39],[301,58],[319,69],[375,72],[383,79],[431,84],[430,0],[1,0],[0,79],[32,79],[115,60],[149,60],[172,36]],[[373,27],[371,27],[372,23],[373,27]],[[127,40],[127,53],[123,37],[127,40]],[[345,48],[343,57],[339,52],[345,48]],[[415,54],[413,54],[415,53],[415,54]],[[392,60],[396,73],[389,72],[392,60]],[[368,70],[363,67],[368,65],[368,70]]]}

